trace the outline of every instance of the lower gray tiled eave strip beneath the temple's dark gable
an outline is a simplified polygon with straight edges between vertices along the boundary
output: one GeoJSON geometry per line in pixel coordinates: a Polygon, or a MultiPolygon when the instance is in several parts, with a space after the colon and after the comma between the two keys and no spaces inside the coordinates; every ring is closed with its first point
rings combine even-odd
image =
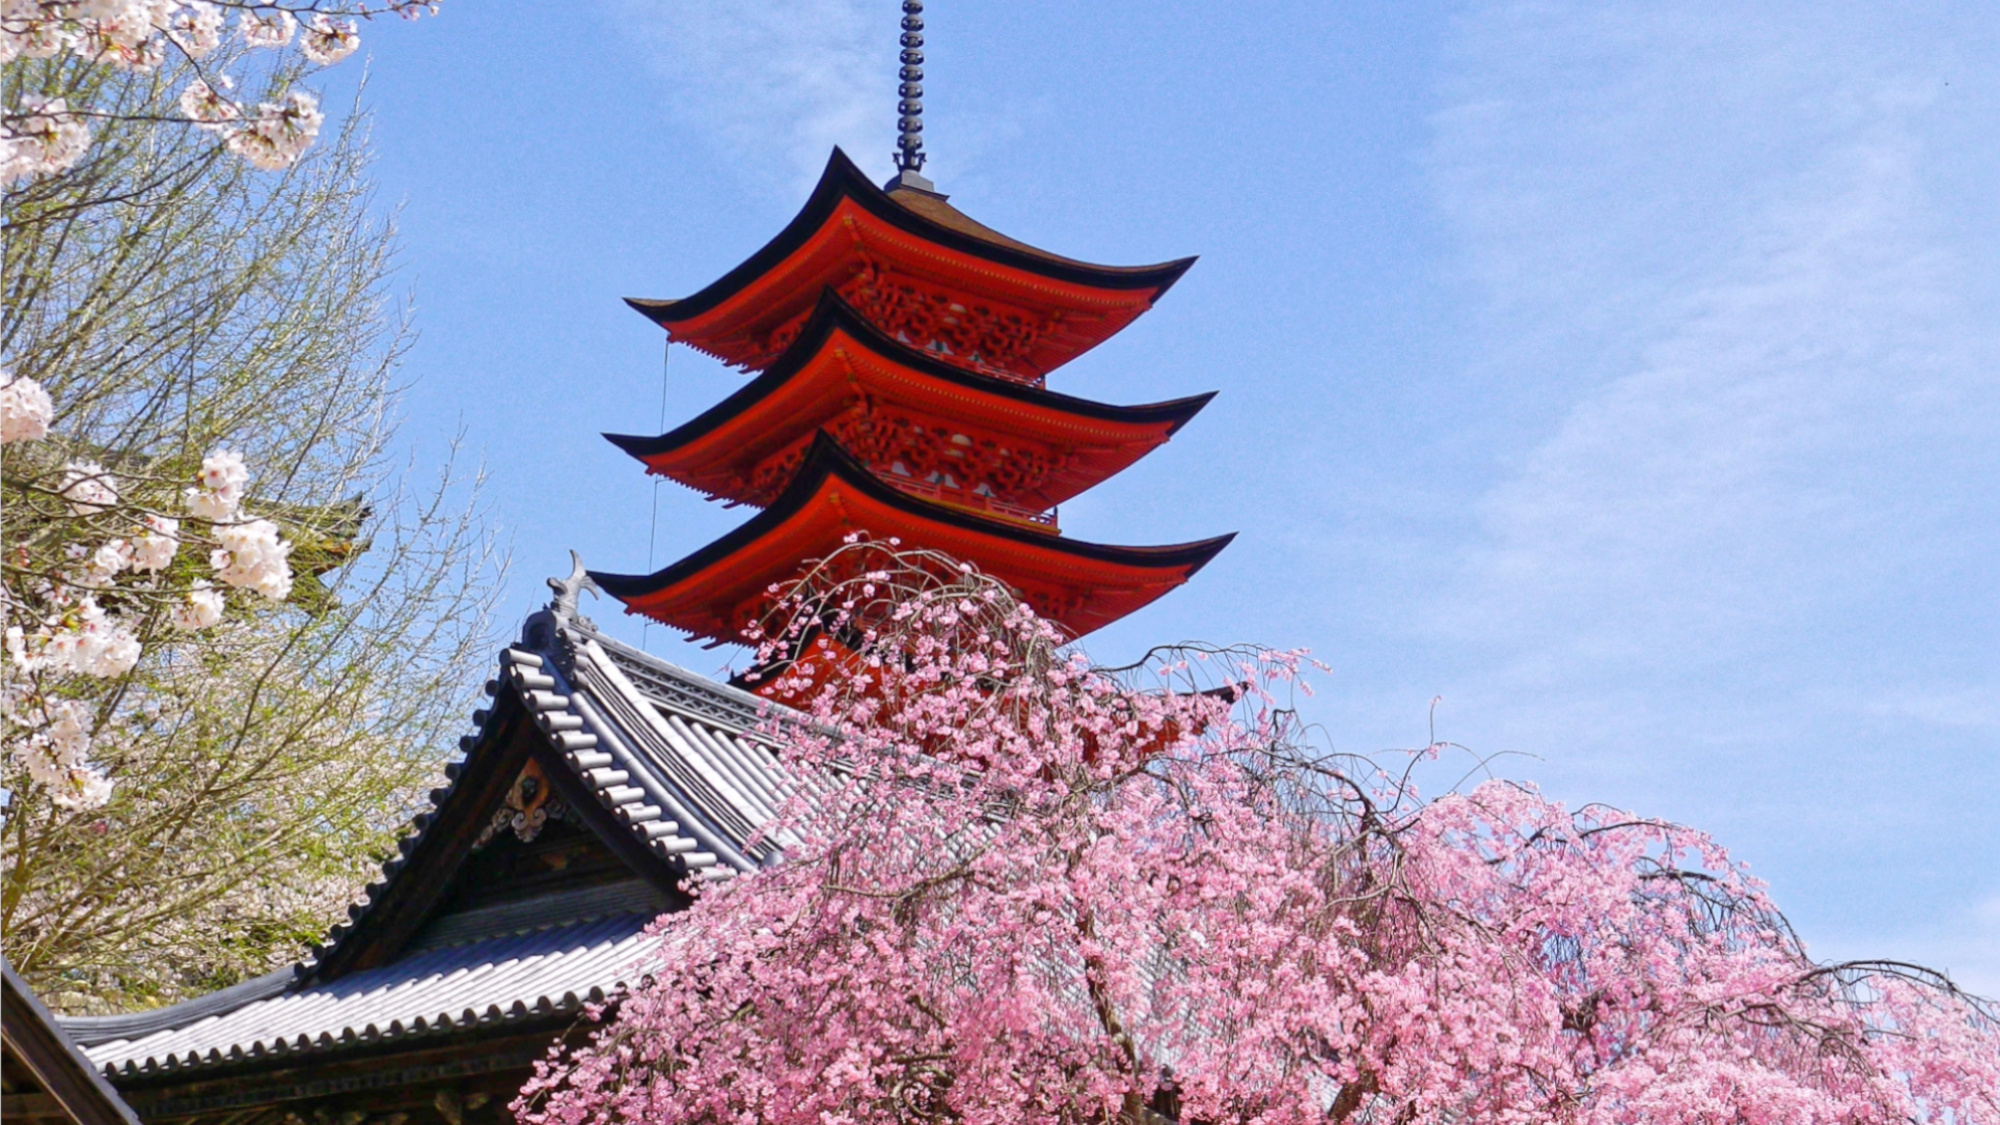
{"type": "MultiPolygon", "coordinates": [[[[112,1075],[142,1075],[570,1013],[638,979],[658,941],[644,933],[650,921],[618,915],[434,949],[184,1027],[96,1041],[84,1055],[112,1075]]],[[[96,1021],[66,1023],[78,1039],[96,1039],[96,1021]]]]}

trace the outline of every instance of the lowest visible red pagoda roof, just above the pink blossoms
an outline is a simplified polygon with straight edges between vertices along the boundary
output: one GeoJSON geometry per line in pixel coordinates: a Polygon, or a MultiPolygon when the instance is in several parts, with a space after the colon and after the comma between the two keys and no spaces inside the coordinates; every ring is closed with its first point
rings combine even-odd
{"type": "Polygon", "coordinates": [[[652,575],[590,577],[628,613],[740,645],[746,617],[774,583],[858,530],[974,562],[1072,637],[1180,587],[1234,538],[1108,546],[976,516],[886,484],[822,430],[784,492],[736,530],[652,575]]]}

